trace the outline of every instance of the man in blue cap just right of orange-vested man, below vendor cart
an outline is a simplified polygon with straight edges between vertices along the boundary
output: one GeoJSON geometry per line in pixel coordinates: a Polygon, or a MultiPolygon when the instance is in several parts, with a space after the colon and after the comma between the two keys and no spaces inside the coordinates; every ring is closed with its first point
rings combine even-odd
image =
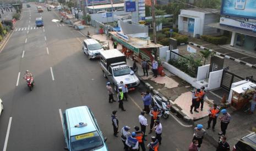
{"type": "Polygon", "coordinates": [[[230,123],[231,116],[227,113],[226,109],[221,109],[221,117],[220,117],[220,129],[221,132],[219,134],[226,135],[227,125],[230,123]]]}

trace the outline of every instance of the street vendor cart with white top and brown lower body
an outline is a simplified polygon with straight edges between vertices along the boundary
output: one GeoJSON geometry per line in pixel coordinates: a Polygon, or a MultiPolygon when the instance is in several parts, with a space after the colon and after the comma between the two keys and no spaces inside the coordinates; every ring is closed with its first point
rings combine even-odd
{"type": "Polygon", "coordinates": [[[231,106],[236,109],[241,109],[245,104],[252,99],[253,92],[256,89],[256,84],[247,82],[232,88],[233,94],[231,99],[231,106]]]}

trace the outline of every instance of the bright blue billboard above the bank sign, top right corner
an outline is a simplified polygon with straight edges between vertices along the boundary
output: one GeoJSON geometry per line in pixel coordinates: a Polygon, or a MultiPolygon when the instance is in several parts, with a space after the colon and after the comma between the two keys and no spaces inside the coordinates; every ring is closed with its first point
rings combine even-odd
{"type": "Polygon", "coordinates": [[[222,0],[221,15],[256,19],[256,0],[222,0]]]}

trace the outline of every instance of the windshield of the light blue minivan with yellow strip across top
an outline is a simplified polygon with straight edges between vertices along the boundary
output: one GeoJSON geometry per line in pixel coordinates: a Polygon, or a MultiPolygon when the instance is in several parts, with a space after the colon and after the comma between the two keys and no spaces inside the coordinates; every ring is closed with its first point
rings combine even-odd
{"type": "Polygon", "coordinates": [[[103,142],[97,131],[72,136],[70,141],[72,150],[89,151],[103,146],[103,142]]]}

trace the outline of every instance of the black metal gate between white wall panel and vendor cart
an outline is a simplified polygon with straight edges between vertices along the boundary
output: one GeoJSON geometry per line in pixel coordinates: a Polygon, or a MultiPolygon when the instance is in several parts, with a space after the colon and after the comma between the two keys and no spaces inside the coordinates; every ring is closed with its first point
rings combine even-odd
{"type": "Polygon", "coordinates": [[[223,73],[222,73],[220,86],[223,89],[230,91],[232,83],[239,82],[241,80],[244,80],[244,78],[239,77],[238,75],[231,73],[231,72],[227,71],[226,69],[224,69],[223,73]]]}

